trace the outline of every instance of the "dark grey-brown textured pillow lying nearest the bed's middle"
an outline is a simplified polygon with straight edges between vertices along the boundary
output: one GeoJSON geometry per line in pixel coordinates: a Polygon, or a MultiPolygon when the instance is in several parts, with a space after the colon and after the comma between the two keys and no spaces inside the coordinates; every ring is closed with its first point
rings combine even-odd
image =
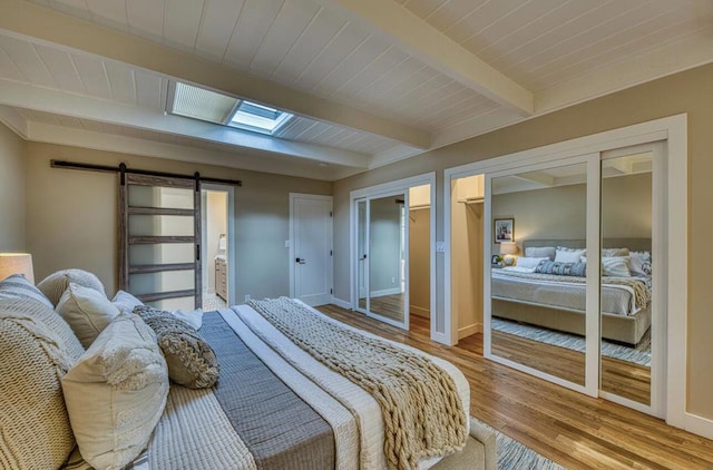
{"type": "Polygon", "coordinates": [[[156,333],[168,376],[189,389],[213,386],[218,380],[218,361],[207,341],[188,323],[168,312],[150,306],[137,306],[134,313],[144,319],[156,333]]]}

